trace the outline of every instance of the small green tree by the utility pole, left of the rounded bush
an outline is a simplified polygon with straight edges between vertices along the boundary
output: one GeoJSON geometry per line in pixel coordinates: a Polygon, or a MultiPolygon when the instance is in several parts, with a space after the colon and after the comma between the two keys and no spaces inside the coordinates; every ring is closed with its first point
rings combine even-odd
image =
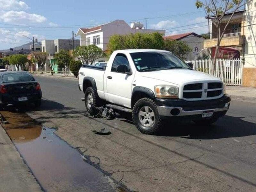
{"type": "MultiPolygon", "coordinates": [[[[69,55],[68,51],[61,49],[59,53],[56,53],[54,56],[60,68],[64,68],[64,76],[66,76],[66,72],[68,71],[70,61],[72,57],[69,55]]],[[[67,73],[68,76],[68,73],[67,73]]]]}

